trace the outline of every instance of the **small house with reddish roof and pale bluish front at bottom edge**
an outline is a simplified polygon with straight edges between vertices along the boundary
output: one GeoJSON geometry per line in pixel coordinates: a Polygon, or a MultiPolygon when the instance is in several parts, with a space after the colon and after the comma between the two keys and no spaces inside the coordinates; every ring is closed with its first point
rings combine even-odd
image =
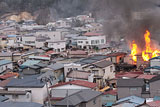
{"type": "Polygon", "coordinates": [[[102,94],[102,104],[110,107],[117,101],[117,90],[108,90],[102,94]]]}

